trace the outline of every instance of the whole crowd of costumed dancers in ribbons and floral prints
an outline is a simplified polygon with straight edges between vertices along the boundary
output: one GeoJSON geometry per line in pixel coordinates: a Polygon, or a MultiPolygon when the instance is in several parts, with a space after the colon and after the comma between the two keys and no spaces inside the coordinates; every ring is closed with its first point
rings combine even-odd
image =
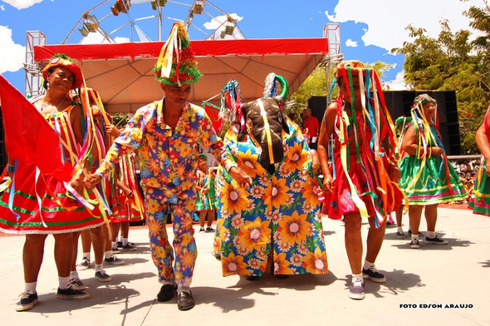
{"type": "MultiPolygon", "coordinates": [[[[182,24],[172,27],[154,70],[165,97],[140,108],[120,130],[105,113],[99,94],[84,87],[80,68],[71,59],[56,55],[43,70],[45,94],[31,103],[59,134],[63,162],[73,171],[67,183],[9,157],[6,169],[12,183],[0,199],[0,230],[26,237],[25,290],[17,311],[38,302],[36,284],[48,234],[55,237],[57,297],[87,299],[76,269],[80,234],[78,269],[89,267],[92,246],[94,276],[109,282],[103,264],[124,264],[114,254],[137,250],[128,239],[133,219],[146,218],[161,284],[158,301],[167,302],[176,292],[181,311],[195,306],[190,288],[197,258],[195,214],[200,232],[215,234],[214,255],[221,260],[223,276],[255,281],[267,271],[277,278],[328,273],[323,203],[328,218],[344,220],[351,299],[365,297],[365,279],[386,282],[375,261],[391,212],[397,212],[398,238],[405,238],[402,213],[408,212],[409,248],[421,246],[423,208],[424,242],[447,245],[435,234],[437,206],[464,200],[467,192],[447,160],[437,131],[437,103],[427,94],[414,99],[411,117],[393,124],[377,73],[358,61],[342,62],[335,73],[339,96],[320,125],[310,109],[304,111],[305,135],[294,117],[283,112],[288,86],[281,76],[267,79],[281,84],[280,94],[249,103],[237,81],[230,80],[222,91],[221,117],[228,125],[222,140],[205,111],[188,102],[201,74],[182,24]],[[211,150],[219,164],[216,173],[200,148],[211,150]],[[172,245],[167,218],[172,220],[172,245]],[[365,256],[363,218],[370,225],[365,256]]],[[[484,215],[490,210],[488,135],[485,118],[477,132],[485,160],[470,205],[484,215]]],[[[467,164],[461,171],[472,172],[467,164]]]]}

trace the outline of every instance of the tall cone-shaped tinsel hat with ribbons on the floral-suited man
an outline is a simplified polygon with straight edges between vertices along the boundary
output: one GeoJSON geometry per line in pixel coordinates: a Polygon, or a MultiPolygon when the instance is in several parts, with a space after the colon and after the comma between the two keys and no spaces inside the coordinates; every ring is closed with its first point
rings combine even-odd
{"type": "Polygon", "coordinates": [[[153,70],[155,79],[165,85],[193,84],[202,76],[197,69],[194,52],[189,46],[189,35],[182,22],[172,26],[169,39],[163,45],[153,70]]]}

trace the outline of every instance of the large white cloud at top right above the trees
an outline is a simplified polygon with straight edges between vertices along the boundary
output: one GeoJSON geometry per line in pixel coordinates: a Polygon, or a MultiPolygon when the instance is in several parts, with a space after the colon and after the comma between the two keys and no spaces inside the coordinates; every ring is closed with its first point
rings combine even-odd
{"type": "Polygon", "coordinates": [[[468,17],[461,13],[470,6],[482,6],[481,0],[339,0],[330,15],[325,11],[332,22],[364,22],[368,29],[362,40],[365,45],[377,45],[386,50],[400,48],[403,41],[409,41],[408,31],[405,28],[423,27],[432,37],[440,33],[440,20],[449,20],[451,31],[470,29],[468,17]],[[396,3],[396,4],[395,4],[396,3]],[[380,8],[385,13],[380,14],[380,8]]]}

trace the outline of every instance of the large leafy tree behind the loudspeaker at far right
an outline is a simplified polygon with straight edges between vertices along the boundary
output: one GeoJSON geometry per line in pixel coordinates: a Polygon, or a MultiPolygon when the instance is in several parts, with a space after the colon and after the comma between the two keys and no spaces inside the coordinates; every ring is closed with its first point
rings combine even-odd
{"type": "Polygon", "coordinates": [[[407,27],[412,42],[391,52],[405,55],[405,81],[413,90],[455,90],[463,153],[478,153],[475,134],[490,104],[490,11],[472,6],[463,14],[478,31],[453,33],[447,20],[440,22],[438,38],[423,28],[407,27]]]}

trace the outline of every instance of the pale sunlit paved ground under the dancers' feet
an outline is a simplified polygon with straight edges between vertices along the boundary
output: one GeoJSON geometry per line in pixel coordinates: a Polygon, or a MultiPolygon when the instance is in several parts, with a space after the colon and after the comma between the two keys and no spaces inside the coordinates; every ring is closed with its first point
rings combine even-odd
{"type": "MultiPolygon", "coordinates": [[[[407,216],[404,217],[407,225],[407,216]]],[[[421,230],[425,230],[425,222],[421,230]]],[[[197,226],[195,226],[197,229],[197,226]]],[[[48,237],[41,275],[39,303],[16,312],[17,295],[23,290],[23,236],[0,237],[0,325],[490,325],[490,218],[470,211],[440,208],[438,234],[448,246],[408,247],[396,239],[396,227],[387,229],[377,267],[384,284],[366,281],[366,298],[347,297],[349,264],[340,222],[324,219],[323,229],[330,272],[325,276],[292,276],[278,280],[264,276],[256,282],[239,276],[223,278],[221,265],[211,256],[212,234],[196,233],[200,250],[193,280],[196,306],[177,309],[176,298],[157,302],[160,285],[151,262],[144,228],[132,229],[130,240],[138,250],[119,255],[126,262],[106,267],[113,281],[99,283],[94,269],[80,271],[90,287],[90,299],[56,299],[57,273],[48,237]],[[416,308],[400,308],[400,305],[416,308]],[[423,309],[420,304],[442,304],[423,309]],[[472,308],[444,308],[446,304],[472,308]]],[[[404,227],[405,232],[407,227],[404,227]]],[[[363,236],[367,222],[363,224],[363,236]]]]}

